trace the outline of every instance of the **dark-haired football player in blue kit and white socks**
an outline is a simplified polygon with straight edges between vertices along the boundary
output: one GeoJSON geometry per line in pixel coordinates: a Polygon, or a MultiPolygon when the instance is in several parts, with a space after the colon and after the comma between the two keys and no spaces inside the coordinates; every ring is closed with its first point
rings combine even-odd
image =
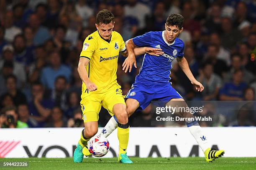
{"type": "MultiPolygon", "coordinates": [[[[147,53],[144,55],[140,72],[136,76],[135,83],[132,85],[131,90],[128,91],[126,95],[125,103],[128,117],[137,109],[145,109],[152,100],[162,101],[166,106],[174,106],[174,103],[176,106],[177,102],[179,102],[179,107],[187,107],[182,96],[170,83],[171,78],[169,75],[172,69],[172,61],[175,58],[184,74],[186,74],[187,78],[191,81],[191,84],[195,86],[195,89],[200,92],[203,91],[204,87],[195,79],[189,69],[186,58],[183,56],[184,42],[177,38],[179,33],[183,30],[183,22],[184,18],[182,15],[169,15],[165,23],[164,31],[151,31],[142,36],[130,39],[126,43],[128,57],[123,63],[125,73],[128,70],[131,72],[133,65],[136,67],[134,48],[148,46],[161,48],[164,52],[161,56],[152,56],[147,53]]],[[[224,154],[224,150],[210,148],[207,137],[193,114],[189,112],[176,112],[176,114],[183,118],[194,118],[194,120],[186,121],[186,124],[190,133],[195,137],[195,140],[204,152],[207,162],[212,162],[224,154]]],[[[117,126],[117,119],[113,116],[100,135],[107,137],[117,126]]]]}

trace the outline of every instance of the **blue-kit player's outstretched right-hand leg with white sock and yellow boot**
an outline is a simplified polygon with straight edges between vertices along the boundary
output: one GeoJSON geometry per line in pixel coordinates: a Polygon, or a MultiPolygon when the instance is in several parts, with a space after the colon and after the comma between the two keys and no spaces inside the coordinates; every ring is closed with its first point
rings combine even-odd
{"type": "MultiPolygon", "coordinates": [[[[166,103],[166,106],[170,107],[184,107],[187,108],[187,103],[184,99],[171,99],[166,103]]],[[[193,118],[191,121],[186,121],[189,132],[197,141],[198,145],[202,149],[205,154],[205,159],[207,162],[212,162],[218,157],[221,157],[224,154],[224,150],[215,150],[214,148],[210,148],[205,132],[203,132],[202,128],[198,124],[194,115],[189,112],[176,112],[180,117],[183,118],[193,118]]]]}

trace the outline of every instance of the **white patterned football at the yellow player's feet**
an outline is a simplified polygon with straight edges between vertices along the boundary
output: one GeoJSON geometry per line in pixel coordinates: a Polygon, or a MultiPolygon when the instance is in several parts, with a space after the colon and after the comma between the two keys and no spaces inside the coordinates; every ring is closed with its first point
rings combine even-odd
{"type": "Polygon", "coordinates": [[[109,148],[109,142],[107,138],[103,136],[97,135],[88,141],[88,149],[95,157],[102,157],[106,155],[109,148]]]}

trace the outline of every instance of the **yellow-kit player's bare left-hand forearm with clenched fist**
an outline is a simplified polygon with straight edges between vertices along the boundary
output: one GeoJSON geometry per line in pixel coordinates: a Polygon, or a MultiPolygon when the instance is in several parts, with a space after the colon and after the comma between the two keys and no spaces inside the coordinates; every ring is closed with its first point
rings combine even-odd
{"type": "Polygon", "coordinates": [[[85,67],[88,65],[89,61],[90,60],[88,60],[87,58],[80,57],[77,71],[80,76],[80,79],[82,79],[82,81],[86,85],[87,89],[89,91],[95,91],[95,90],[97,90],[97,86],[94,83],[92,83],[92,81],[90,81],[87,71],[85,69],[85,67]]]}

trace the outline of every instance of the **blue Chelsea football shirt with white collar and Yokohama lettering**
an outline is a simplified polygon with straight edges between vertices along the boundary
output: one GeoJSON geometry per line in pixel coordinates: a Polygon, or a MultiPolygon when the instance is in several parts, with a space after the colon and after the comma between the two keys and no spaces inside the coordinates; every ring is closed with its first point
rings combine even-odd
{"type": "Polygon", "coordinates": [[[161,48],[164,51],[162,56],[144,55],[135,83],[168,84],[170,82],[172,61],[177,57],[183,57],[184,42],[176,38],[169,44],[164,38],[164,32],[151,31],[133,38],[133,43],[138,47],[161,48]]]}

